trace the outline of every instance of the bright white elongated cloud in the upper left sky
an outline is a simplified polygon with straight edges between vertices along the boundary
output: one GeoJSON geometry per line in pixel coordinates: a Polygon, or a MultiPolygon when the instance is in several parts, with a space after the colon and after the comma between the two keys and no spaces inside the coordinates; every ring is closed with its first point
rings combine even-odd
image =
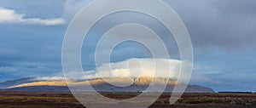
{"type": "Polygon", "coordinates": [[[26,14],[19,14],[13,9],[4,9],[0,7],[0,23],[24,23],[29,25],[57,26],[64,24],[65,20],[61,18],[26,18],[26,14]]]}

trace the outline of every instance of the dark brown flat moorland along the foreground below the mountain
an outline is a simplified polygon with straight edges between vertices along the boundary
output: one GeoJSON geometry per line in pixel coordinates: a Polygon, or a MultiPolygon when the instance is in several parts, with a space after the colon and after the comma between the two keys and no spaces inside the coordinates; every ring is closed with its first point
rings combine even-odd
{"type": "MultiPolygon", "coordinates": [[[[128,99],[137,94],[105,93],[113,99],[128,99]]],[[[169,105],[171,94],[163,94],[151,108],[256,108],[256,94],[183,94],[169,105]]],[[[84,108],[70,93],[0,92],[0,108],[84,108]]]]}

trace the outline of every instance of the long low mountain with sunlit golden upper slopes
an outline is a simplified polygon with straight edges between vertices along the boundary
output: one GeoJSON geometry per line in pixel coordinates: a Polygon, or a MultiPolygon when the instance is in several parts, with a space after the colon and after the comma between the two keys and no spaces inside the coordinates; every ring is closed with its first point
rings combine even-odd
{"type": "MultiPolygon", "coordinates": [[[[164,78],[150,78],[150,77],[141,77],[138,79],[135,78],[108,78],[108,79],[91,79],[86,81],[42,81],[42,82],[27,82],[15,85],[13,87],[6,88],[5,90],[10,91],[22,91],[22,92],[68,92],[67,82],[71,83],[74,87],[77,87],[77,90],[80,91],[80,85],[86,88],[86,86],[91,85],[98,92],[153,92],[145,91],[149,84],[154,80],[154,91],[158,91],[157,86],[167,82],[165,92],[170,92],[176,84],[185,85],[182,82],[177,82],[176,80],[166,80],[164,78]],[[105,81],[107,82],[105,82],[105,81]],[[130,85],[127,87],[116,87],[114,85],[108,84],[111,82],[114,85],[130,85]]],[[[84,90],[84,89],[83,89],[84,90]]],[[[212,88],[201,87],[197,85],[188,85],[186,88],[186,93],[213,93],[212,88]]]]}

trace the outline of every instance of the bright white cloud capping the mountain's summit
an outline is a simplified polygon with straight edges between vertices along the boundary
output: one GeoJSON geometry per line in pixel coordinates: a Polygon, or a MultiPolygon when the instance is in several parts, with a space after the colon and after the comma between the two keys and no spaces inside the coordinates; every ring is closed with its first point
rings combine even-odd
{"type": "Polygon", "coordinates": [[[177,77],[180,60],[130,59],[103,64],[96,71],[84,71],[83,79],[113,77],[177,77]],[[109,66],[110,65],[110,66],[109,66]],[[169,73],[170,72],[170,73],[169,73]]]}

